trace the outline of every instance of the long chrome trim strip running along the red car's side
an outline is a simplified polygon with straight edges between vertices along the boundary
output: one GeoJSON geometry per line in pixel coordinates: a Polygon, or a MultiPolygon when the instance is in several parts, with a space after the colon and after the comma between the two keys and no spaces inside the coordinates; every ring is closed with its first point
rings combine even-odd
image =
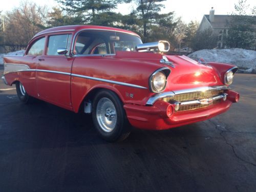
{"type": "MultiPolygon", "coordinates": [[[[74,74],[74,73],[67,73],[67,72],[60,72],[60,71],[41,70],[41,69],[28,69],[28,70],[13,71],[13,72],[10,72],[10,73],[27,72],[27,71],[57,73],[57,74],[69,75],[69,76],[73,76],[73,77],[80,77],[80,78],[84,78],[84,79],[91,79],[91,80],[96,80],[96,81],[102,81],[102,82],[109,82],[109,83],[113,83],[113,84],[119,84],[121,86],[128,86],[128,87],[139,88],[139,89],[147,89],[145,87],[138,86],[137,84],[125,83],[125,82],[120,82],[120,81],[113,81],[113,80],[108,80],[108,79],[102,79],[102,78],[97,78],[97,77],[90,77],[90,76],[78,75],[78,74],[74,74]]],[[[9,74],[9,73],[6,73],[6,74],[9,74]]]]}

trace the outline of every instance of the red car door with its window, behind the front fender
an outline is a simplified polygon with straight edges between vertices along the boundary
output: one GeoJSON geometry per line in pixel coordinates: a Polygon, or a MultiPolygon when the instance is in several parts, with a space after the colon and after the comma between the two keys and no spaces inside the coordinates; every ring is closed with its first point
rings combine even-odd
{"type": "Polygon", "coordinates": [[[38,97],[72,110],[70,95],[71,69],[74,58],[59,55],[57,50],[70,50],[71,34],[48,36],[46,54],[38,58],[36,86],[38,97]]]}

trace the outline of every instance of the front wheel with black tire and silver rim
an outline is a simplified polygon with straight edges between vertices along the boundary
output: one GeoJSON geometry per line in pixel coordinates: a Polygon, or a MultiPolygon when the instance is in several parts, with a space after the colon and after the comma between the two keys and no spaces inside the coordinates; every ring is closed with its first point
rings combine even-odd
{"type": "Polygon", "coordinates": [[[102,90],[96,94],[92,117],[97,132],[106,141],[122,141],[130,135],[122,102],[112,91],[102,90]]]}

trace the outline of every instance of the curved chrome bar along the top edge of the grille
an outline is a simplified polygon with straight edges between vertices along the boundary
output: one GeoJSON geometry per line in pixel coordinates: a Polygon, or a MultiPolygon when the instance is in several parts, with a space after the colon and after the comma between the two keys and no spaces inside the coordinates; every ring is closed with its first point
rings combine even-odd
{"type": "Polygon", "coordinates": [[[157,100],[164,98],[164,97],[174,97],[175,95],[191,93],[191,92],[205,92],[205,91],[216,91],[216,90],[229,90],[227,86],[215,86],[215,87],[199,87],[193,89],[185,89],[185,90],[178,90],[178,91],[169,91],[164,93],[158,93],[150,97],[146,105],[153,105],[157,100]]]}

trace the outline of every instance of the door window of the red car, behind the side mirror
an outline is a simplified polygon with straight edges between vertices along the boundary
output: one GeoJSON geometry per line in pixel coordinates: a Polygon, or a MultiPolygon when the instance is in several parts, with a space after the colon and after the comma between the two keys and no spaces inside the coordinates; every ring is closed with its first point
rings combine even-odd
{"type": "MultiPolygon", "coordinates": [[[[57,50],[59,48],[65,48],[69,50],[71,45],[71,37],[71,34],[50,36],[47,48],[47,55],[58,55],[57,50]]],[[[69,54],[69,52],[67,54],[69,54]]]]}

